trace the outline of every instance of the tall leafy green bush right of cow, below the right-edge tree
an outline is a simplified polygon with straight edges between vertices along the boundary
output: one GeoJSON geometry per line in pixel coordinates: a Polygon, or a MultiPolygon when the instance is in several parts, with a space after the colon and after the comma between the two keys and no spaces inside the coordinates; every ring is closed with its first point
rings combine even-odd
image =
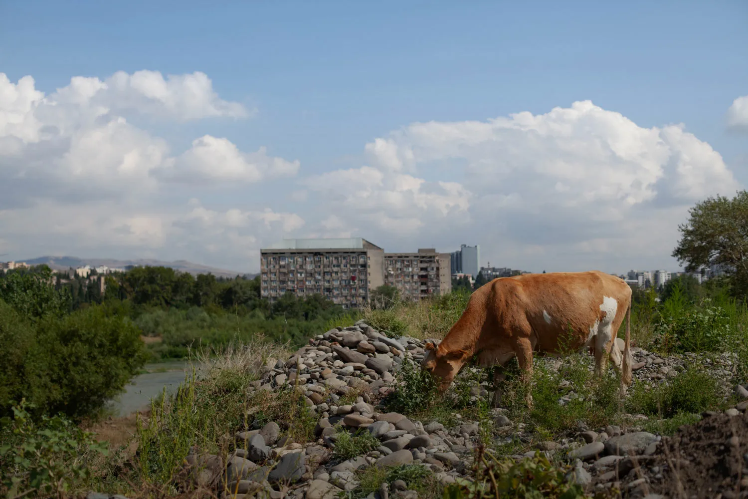
{"type": "Polygon", "coordinates": [[[711,299],[689,306],[676,288],[663,309],[654,340],[661,352],[723,352],[732,339],[729,316],[711,299]]]}

